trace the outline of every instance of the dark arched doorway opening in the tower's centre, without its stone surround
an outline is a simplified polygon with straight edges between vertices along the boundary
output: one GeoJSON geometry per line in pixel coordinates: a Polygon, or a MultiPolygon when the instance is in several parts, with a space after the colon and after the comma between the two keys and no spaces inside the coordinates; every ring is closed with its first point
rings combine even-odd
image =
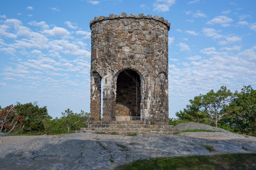
{"type": "Polygon", "coordinates": [[[127,69],[116,80],[116,121],[139,120],[141,80],[136,71],[127,69]]]}

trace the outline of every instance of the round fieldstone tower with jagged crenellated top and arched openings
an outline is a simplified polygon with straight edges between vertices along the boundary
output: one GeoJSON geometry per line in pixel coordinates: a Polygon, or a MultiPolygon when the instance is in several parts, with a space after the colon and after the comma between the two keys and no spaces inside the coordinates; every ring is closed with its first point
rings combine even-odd
{"type": "Polygon", "coordinates": [[[91,29],[90,121],[168,125],[168,31],[151,14],[95,17],[91,29]],[[103,89],[101,89],[101,83],[103,89]]]}

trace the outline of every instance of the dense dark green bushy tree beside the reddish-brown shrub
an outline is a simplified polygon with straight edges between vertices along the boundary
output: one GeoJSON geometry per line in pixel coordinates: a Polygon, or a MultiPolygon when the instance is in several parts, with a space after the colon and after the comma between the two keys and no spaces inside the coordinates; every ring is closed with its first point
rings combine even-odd
{"type": "Polygon", "coordinates": [[[16,108],[16,113],[24,117],[22,120],[23,131],[42,132],[44,130],[43,120],[48,115],[46,106],[39,107],[37,102],[30,102],[26,104],[20,104],[20,102],[17,102],[16,108]]]}

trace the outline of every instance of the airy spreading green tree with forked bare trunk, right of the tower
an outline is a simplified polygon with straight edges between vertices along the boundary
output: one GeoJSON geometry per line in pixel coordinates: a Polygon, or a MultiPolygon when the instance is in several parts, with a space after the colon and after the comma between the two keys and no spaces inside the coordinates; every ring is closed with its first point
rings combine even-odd
{"type": "Polygon", "coordinates": [[[207,114],[215,127],[217,127],[220,119],[236,111],[236,107],[230,107],[230,102],[233,101],[236,94],[237,91],[233,94],[230,90],[227,90],[226,86],[221,86],[221,89],[217,92],[212,89],[205,95],[195,96],[189,102],[207,114]]]}

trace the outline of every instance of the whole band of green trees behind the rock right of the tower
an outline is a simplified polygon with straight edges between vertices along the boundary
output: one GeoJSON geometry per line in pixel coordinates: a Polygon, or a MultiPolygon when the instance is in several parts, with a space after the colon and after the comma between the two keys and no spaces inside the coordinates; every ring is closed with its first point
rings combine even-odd
{"type": "Polygon", "coordinates": [[[169,125],[197,122],[220,127],[231,132],[256,136],[256,90],[244,86],[232,93],[226,86],[209,91],[189,100],[183,111],[169,119],[169,125]]]}

